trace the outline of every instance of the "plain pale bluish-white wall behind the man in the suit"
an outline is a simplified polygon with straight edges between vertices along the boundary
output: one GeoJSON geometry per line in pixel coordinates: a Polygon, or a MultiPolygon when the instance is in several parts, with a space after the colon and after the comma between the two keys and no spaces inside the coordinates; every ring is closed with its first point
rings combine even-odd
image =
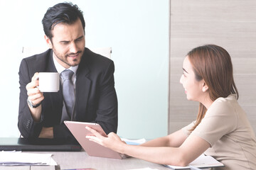
{"type": "MultiPolygon", "coordinates": [[[[61,1],[1,1],[0,137],[19,135],[18,67],[21,49],[46,47],[41,19],[61,1]]],[[[87,47],[112,47],[119,101],[118,134],[167,134],[169,0],[80,0],[87,47]]]]}

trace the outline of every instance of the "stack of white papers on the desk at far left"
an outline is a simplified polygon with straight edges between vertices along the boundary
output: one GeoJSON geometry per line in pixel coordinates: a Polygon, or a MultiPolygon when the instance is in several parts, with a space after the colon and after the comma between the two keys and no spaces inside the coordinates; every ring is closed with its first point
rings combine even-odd
{"type": "Polygon", "coordinates": [[[57,165],[52,154],[33,154],[23,152],[0,152],[0,166],[16,165],[57,165]]]}

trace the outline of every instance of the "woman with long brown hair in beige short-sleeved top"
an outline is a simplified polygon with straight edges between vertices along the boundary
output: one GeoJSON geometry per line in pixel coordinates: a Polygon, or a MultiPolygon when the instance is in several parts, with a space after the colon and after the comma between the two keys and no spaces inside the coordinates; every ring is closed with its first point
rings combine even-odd
{"type": "Polygon", "coordinates": [[[89,140],[114,151],[157,164],[186,166],[201,154],[225,167],[256,169],[255,132],[238,103],[238,89],[228,52],[217,45],[196,47],[183,61],[180,80],[188,100],[198,101],[198,116],[190,125],[142,145],[127,145],[111,132],[103,137],[87,127],[89,140]]]}

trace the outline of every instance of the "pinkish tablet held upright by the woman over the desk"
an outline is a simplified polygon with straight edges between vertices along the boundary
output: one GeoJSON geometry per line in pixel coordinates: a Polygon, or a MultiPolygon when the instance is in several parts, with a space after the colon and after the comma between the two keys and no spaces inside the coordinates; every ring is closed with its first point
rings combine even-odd
{"type": "Polygon", "coordinates": [[[124,154],[120,154],[118,152],[114,152],[112,149],[107,147],[103,147],[95,142],[90,141],[86,138],[86,135],[92,135],[92,132],[87,130],[85,127],[88,126],[92,129],[97,130],[100,134],[105,134],[104,130],[97,123],[84,123],[84,122],[75,122],[75,121],[64,121],[65,125],[68,127],[70,132],[74,135],[75,139],[78,140],[80,145],[85,152],[92,157],[107,157],[114,159],[122,159],[124,154]]]}

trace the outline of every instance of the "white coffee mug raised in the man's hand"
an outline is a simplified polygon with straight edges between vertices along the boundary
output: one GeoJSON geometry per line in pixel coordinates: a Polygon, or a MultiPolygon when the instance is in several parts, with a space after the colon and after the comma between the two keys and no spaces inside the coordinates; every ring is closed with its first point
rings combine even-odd
{"type": "Polygon", "coordinates": [[[41,92],[58,92],[60,89],[60,74],[58,72],[39,72],[39,90],[41,92]]]}

